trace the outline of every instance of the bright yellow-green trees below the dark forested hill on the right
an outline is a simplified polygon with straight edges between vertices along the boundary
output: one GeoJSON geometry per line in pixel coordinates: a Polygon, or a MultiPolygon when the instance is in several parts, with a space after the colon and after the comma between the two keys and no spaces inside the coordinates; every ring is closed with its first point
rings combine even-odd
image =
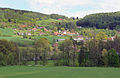
{"type": "Polygon", "coordinates": [[[95,28],[81,28],[79,31],[80,35],[83,35],[84,37],[88,38],[97,38],[105,39],[107,37],[113,37],[117,34],[117,31],[115,30],[108,30],[108,29],[95,29],[95,28]],[[100,38],[101,37],[101,38],[100,38]]]}

